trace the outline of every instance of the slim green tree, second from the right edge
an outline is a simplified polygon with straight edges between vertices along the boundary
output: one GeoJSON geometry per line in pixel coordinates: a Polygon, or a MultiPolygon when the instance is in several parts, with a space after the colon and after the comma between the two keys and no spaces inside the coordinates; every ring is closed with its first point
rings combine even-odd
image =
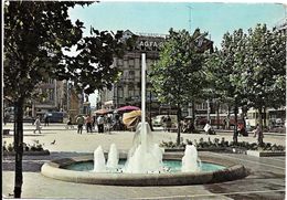
{"type": "Polygon", "coordinates": [[[235,116],[234,143],[237,143],[238,107],[246,104],[241,78],[246,57],[246,36],[242,29],[234,31],[233,34],[225,33],[222,49],[216,50],[205,62],[208,81],[214,91],[214,96],[233,105],[235,116]]]}

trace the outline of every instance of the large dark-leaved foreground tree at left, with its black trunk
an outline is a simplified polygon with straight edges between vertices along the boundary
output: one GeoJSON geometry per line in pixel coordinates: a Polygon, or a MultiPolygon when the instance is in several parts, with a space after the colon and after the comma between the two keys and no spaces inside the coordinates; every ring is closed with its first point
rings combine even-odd
{"type": "Polygon", "coordinates": [[[36,86],[49,78],[71,80],[86,94],[110,87],[118,77],[113,57],[124,53],[121,32],[91,28],[83,38],[84,24],[72,23],[68,9],[91,2],[7,1],[4,4],[4,96],[14,104],[15,181],[14,198],[21,197],[23,156],[23,105],[36,86]],[[76,46],[77,55],[63,50],[76,46]]]}

